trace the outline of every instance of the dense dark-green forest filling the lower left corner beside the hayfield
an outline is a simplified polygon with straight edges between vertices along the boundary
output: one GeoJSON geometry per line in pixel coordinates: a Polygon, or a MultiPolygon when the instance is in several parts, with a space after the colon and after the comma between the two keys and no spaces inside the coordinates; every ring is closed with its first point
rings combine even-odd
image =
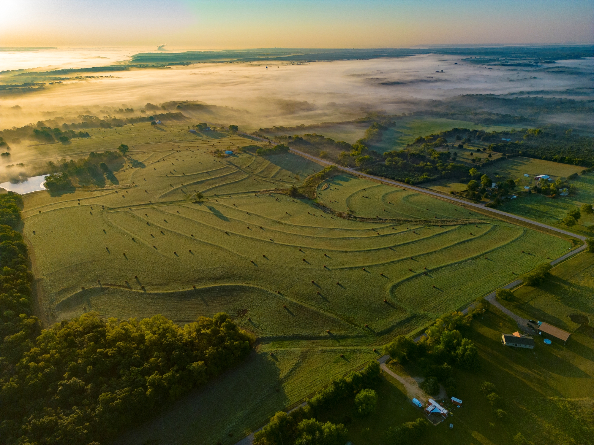
{"type": "Polygon", "coordinates": [[[183,327],[156,315],[33,316],[20,195],[0,195],[0,444],[99,445],[245,358],[254,341],[224,313],[183,327]]]}

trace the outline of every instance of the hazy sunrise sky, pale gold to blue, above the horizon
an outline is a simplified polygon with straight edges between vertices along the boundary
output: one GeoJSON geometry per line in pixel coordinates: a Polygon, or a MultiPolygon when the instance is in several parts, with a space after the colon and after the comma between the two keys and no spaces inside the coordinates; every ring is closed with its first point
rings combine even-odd
{"type": "Polygon", "coordinates": [[[594,43],[594,0],[0,0],[0,11],[0,47],[594,43]]]}

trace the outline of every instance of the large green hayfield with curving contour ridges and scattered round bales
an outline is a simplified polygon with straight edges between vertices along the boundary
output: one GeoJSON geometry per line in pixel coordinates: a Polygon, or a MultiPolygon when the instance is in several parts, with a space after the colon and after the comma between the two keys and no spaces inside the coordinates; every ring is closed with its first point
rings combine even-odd
{"type": "Polygon", "coordinates": [[[239,368],[127,436],[130,443],[234,443],[377,357],[372,349],[392,336],[417,332],[571,246],[354,176],[321,182],[317,202],[292,198],[278,190],[302,185],[321,166],[293,154],[214,157],[214,148],[254,141],[140,127],[109,142],[131,146],[114,185],[24,195],[40,316],[53,323],[90,310],[162,313],[185,323],[226,311],[259,342],[239,368]],[[156,135],[169,139],[146,139],[156,135]],[[194,202],[195,190],[206,199],[194,202]],[[204,412],[208,400],[220,411],[204,412]]]}

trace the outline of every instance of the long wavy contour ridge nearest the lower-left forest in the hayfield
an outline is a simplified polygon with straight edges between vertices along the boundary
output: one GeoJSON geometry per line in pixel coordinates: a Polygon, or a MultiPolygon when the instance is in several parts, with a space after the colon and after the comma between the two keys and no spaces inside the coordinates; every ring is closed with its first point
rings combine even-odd
{"type": "MultiPolygon", "coordinates": [[[[321,314],[322,316],[326,317],[327,319],[334,319],[334,322],[336,322],[337,325],[347,325],[350,328],[355,328],[356,330],[361,330],[361,328],[359,328],[358,326],[353,325],[353,323],[346,322],[346,320],[341,319],[339,316],[336,316],[336,314],[320,310],[317,307],[311,306],[310,304],[304,303],[303,301],[296,300],[295,298],[289,297],[286,294],[283,294],[283,293],[278,294],[278,293],[273,292],[265,287],[257,286],[255,284],[245,284],[245,283],[216,284],[216,285],[210,285],[210,286],[197,287],[195,289],[187,288],[185,290],[176,290],[176,291],[143,291],[143,290],[130,289],[130,288],[124,287],[123,285],[122,286],[119,286],[119,285],[118,286],[115,286],[115,285],[114,286],[110,286],[110,285],[92,286],[92,287],[85,288],[85,290],[79,290],[73,294],[67,295],[67,297],[62,298],[62,300],[60,300],[58,303],[56,303],[55,306],[58,306],[58,304],[61,304],[68,300],[77,298],[77,297],[85,294],[86,291],[88,291],[88,290],[101,290],[101,289],[106,289],[106,288],[119,289],[119,290],[122,290],[125,292],[137,293],[137,294],[153,296],[153,297],[157,297],[159,295],[175,296],[176,294],[179,294],[180,297],[187,298],[189,293],[194,293],[195,297],[200,297],[201,296],[199,294],[200,291],[216,290],[217,288],[226,288],[226,287],[258,289],[260,291],[264,291],[264,293],[268,293],[268,294],[273,295],[274,297],[280,298],[281,300],[285,300],[287,302],[290,301],[291,303],[296,304],[297,306],[301,306],[308,310],[314,311],[315,313],[321,314]]],[[[194,297],[194,295],[189,295],[189,296],[194,297]]],[[[53,306],[53,309],[56,309],[55,306],[53,306]]],[[[290,307],[289,307],[289,309],[290,309],[290,307]]],[[[327,335],[322,335],[321,337],[327,338],[327,335]]]]}

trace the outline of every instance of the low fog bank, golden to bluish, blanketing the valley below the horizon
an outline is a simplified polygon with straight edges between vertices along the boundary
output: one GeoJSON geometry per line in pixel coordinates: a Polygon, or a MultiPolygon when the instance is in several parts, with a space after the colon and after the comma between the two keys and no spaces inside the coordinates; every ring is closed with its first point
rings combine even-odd
{"type": "MultiPolygon", "coordinates": [[[[533,68],[489,67],[463,59],[418,55],[288,65],[200,63],[86,77],[71,74],[62,76],[67,80],[40,85],[40,90],[6,94],[0,119],[2,128],[8,128],[56,116],[97,115],[105,107],[138,109],[147,102],[197,100],[242,110],[236,122],[253,129],[349,120],[368,110],[409,113],[435,100],[459,106],[470,99],[456,97],[468,94],[504,95],[500,97],[510,100],[482,100],[478,105],[504,114],[517,114],[514,100],[530,91],[543,97],[592,98],[594,59],[533,68]]],[[[477,106],[478,99],[474,101],[469,106],[477,106]]]]}

